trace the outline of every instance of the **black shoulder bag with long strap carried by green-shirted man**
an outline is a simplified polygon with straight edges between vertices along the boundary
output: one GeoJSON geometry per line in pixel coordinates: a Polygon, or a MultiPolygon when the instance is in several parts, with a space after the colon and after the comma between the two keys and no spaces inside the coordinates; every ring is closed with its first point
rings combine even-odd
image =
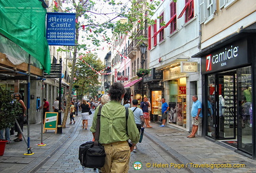
{"type": "Polygon", "coordinates": [[[78,159],[84,169],[87,168],[101,168],[105,164],[105,150],[98,140],[100,138],[100,116],[101,108],[99,107],[97,114],[95,141],[88,141],[79,146],[79,156],[78,159]]]}

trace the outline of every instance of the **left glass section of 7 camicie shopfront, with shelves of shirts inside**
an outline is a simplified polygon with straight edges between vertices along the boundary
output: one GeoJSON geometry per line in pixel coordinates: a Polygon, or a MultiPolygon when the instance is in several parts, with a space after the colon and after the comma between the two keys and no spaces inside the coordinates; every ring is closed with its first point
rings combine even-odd
{"type": "Polygon", "coordinates": [[[207,78],[207,135],[215,139],[236,139],[236,70],[207,78]]]}

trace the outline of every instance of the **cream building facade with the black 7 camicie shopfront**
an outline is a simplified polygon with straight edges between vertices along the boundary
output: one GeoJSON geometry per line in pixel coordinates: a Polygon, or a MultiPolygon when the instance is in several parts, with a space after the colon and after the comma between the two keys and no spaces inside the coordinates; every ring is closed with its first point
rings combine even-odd
{"type": "Polygon", "coordinates": [[[242,0],[211,2],[200,1],[202,50],[193,55],[201,58],[207,115],[203,135],[236,143],[239,152],[255,159],[256,5],[242,0]]]}

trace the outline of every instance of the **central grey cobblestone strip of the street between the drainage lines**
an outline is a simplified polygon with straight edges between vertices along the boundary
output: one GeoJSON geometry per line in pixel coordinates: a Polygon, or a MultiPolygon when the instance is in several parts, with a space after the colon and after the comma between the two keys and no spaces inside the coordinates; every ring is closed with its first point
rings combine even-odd
{"type": "MultiPolygon", "coordinates": [[[[79,122],[79,120],[78,120],[79,122]]],[[[90,120],[91,123],[91,120],[90,120]]],[[[46,164],[43,165],[37,172],[96,172],[91,168],[82,170],[82,166],[78,161],[78,146],[92,139],[91,132],[87,129],[82,129],[81,125],[76,126],[75,133],[71,139],[64,143],[62,148],[53,155],[46,164]]],[[[180,172],[174,168],[146,168],[146,163],[156,162],[172,162],[177,164],[174,159],[171,159],[168,154],[158,149],[155,143],[144,138],[142,143],[138,144],[137,152],[132,152],[130,158],[129,172],[138,172],[133,168],[133,163],[139,161],[142,163],[140,172],[180,172]]],[[[181,172],[187,172],[185,170],[181,172]]]]}

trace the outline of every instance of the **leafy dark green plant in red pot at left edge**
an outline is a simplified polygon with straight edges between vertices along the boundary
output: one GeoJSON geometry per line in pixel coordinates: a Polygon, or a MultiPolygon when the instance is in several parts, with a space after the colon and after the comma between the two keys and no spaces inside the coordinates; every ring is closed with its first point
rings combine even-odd
{"type": "MultiPolygon", "coordinates": [[[[7,90],[0,89],[0,129],[14,126],[15,117],[22,113],[19,102],[11,97],[7,90]]],[[[4,155],[6,140],[0,140],[0,155],[4,155]]]]}

